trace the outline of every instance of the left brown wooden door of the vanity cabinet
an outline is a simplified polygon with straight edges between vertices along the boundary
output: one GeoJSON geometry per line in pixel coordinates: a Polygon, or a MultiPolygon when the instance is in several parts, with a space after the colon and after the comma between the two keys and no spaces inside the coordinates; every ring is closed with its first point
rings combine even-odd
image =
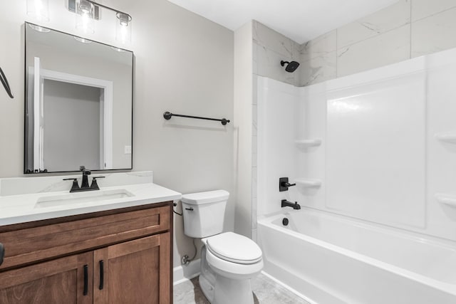
{"type": "Polygon", "coordinates": [[[93,303],[92,263],[88,252],[1,272],[0,303],[93,303]]]}

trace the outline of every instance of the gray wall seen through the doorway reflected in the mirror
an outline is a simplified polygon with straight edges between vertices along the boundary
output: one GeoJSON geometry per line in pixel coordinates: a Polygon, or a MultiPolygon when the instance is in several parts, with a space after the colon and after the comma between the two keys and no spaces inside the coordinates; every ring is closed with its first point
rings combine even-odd
{"type": "Polygon", "coordinates": [[[100,168],[100,88],[44,80],[44,168],[100,168]]]}

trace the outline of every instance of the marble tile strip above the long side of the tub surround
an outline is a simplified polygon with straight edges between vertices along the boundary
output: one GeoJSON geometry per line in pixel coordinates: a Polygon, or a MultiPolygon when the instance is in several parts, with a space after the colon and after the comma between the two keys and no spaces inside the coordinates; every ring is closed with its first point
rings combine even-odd
{"type": "Polygon", "coordinates": [[[298,86],[456,47],[455,0],[400,0],[299,47],[298,86]]]}

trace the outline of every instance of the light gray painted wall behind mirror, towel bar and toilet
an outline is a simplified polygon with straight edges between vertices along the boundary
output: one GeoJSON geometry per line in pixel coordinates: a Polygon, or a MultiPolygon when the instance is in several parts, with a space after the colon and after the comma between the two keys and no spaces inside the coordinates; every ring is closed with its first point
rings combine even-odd
{"type": "MultiPolygon", "coordinates": [[[[74,15],[50,0],[48,27],[76,33],[74,15]]],[[[163,112],[233,119],[233,32],[165,0],[103,1],[133,16],[135,52],[133,169],[182,193],[226,189],[225,226],[234,229],[233,124],[173,117],[163,112]]],[[[16,95],[0,90],[0,177],[21,177],[24,161],[24,20],[26,1],[0,2],[0,65],[16,95]]],[[[108,18],[108,12],[103,16],[108,18]]],[[[115,16],[113,17],[115,19],[115,16]]],[[[97,23],[93,39],[115,44],[115,21],[97,23]],[[103,24],[107,28],[103,31],[103,24]],[[101,28],[101,29],[100,29],[101,28]]],[[[36,22],[36,21],[34,21],[36,22]]],[[[180,208],[180,206],[179,206],[180,208]]],[[[192,240],[175,216],[174,264],[192,256],[192,240]]]]}

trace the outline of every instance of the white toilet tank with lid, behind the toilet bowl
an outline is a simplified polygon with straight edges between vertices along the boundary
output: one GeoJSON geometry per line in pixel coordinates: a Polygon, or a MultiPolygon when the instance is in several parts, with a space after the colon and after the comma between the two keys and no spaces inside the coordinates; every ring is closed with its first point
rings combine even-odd
{"type": "Polygon", "coordinates": [[[205,238],[222,233],[228,197],[225,190],[182,195],[185,234],[205,238]]]}

